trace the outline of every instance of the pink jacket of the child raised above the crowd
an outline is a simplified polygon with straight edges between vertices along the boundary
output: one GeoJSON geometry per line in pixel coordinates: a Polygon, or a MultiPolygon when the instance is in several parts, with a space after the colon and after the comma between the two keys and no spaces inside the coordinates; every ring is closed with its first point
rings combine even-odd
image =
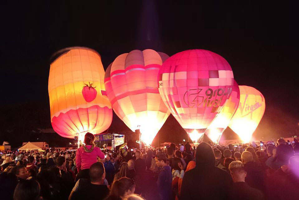
{"type": "MultiPolygon", "coordinates": [[[[91,149],[92,145],[86,145],[87,149],[91,149]]],[[[94,147],[92,152],[86,152],[81,146],[76,153],[76,167],[78,171],[89,169],[90,166],[97,162],[97,157],[104,159],[105,155],[100,148],[94,147]]]]}

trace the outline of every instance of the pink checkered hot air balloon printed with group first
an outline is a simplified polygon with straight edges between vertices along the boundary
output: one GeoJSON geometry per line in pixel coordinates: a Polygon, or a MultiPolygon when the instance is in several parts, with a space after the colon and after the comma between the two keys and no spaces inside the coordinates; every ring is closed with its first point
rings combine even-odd
{"type": "Polygon", "coordinates": [[[216,53],[195,49],[168,58],[159,71],[159,92],[192,140],[203,135],[230,97],[234,75],[216,53]]]}

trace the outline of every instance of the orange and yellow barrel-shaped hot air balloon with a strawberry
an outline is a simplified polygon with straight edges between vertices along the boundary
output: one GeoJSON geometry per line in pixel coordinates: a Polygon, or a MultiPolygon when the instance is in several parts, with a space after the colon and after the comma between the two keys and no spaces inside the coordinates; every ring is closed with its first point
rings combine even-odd
{"type": "Polygon", "coordinates": [[[48,91],[55,132],[83,141],[87,132],[105,131],[112,122],[112,108],[101,56],[90,48],[70,47],[56,52],[51,60],[48,91]]]}

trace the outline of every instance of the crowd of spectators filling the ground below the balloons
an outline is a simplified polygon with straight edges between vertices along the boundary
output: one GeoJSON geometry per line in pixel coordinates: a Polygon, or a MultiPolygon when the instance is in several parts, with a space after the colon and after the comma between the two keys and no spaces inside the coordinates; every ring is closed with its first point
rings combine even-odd
{"type": "Polygon", "coordinates": [[[0,198],[299,199],[299,142],[77,151],[2,151],[0,198]]]}

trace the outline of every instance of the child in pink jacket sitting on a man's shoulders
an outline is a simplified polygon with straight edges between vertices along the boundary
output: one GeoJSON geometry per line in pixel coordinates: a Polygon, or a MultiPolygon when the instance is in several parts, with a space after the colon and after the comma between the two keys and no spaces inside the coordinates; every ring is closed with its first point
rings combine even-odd
{"type": "Polygon", "coordinates": [[[101,149],[94,145],[95,136],[92,133],[86,133],[84,136],[84,144],[77,150],[76,166],[78,175],[75,182],[80,178],[89,178],[90,166],[97,162],[97,157],[104,159],[105,155],[101,149]]]}

